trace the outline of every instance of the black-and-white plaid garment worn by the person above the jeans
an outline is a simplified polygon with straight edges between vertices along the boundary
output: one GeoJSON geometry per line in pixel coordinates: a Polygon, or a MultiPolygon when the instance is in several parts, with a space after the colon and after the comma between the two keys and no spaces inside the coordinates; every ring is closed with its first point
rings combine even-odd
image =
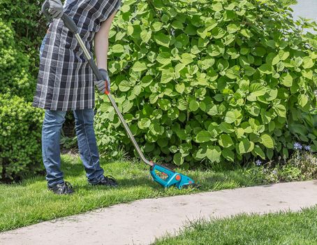
{"type": "MultiPolygon", "coordinates": [[[[76,0],[64,6],[91,53],[94,34],[120,3],[120,0],[76,0]]],[[[54,20],[40,57],[33,106],[53,111],[94,109],[94,79],[78,41],[62,20],[54,20]]]]}

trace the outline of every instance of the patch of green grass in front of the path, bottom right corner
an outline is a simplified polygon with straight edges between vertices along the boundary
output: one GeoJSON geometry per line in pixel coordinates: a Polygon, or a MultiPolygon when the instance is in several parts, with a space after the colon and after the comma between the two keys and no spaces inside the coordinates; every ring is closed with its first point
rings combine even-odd
{"type": "Polygon", "coordinates": [[[242,214],[234,218],[197,221],[177,237],[165,237],[155,245],[174,244],[317,244],[317,206],[302,212],[280,212],[264,216],[242,214]]]}

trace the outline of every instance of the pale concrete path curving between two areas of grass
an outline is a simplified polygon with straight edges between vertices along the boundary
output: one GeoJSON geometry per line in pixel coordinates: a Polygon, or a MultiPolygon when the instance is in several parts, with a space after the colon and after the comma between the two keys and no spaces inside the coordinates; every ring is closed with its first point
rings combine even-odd
{"type": "Polygon", "coordinates": [[[317,204],[317,181],[140,200],[0,233],[0,244],[150,244],[188,221],[298,211],[317,204]]]}

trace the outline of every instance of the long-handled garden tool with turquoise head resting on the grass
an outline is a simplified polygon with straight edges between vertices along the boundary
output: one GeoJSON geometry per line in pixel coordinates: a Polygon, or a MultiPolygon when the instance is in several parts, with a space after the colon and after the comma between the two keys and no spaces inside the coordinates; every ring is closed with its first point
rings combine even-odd
{"type": "MultiPolygon", "coordinates": [[[[47,17],[47,19],[50,20],[50,15],[47,13],[48,7],[49,6],[47,6],[47,2],[45,1],[45,3],[42,6],[42,12],[47,17]]],[[[80,47],[84,51],[84,55],[88,59],[89,65],[91,66],[91,69],[94,71],[96,78],[98,80],[103,80],[103,77],[101,76],[101,73],[98,70],[96,63],[94,62],[94,58],[91,57],[89,51],[87,50],[86,46],[84,45],[84,42],[82,41],[82,38],[78,34],[78,27],[76,26],[73,19],[70,18],[68,15],[66,15],[66,13],[64,13],[64,15],[61,17],[61,19],[64,21],[64,25],[73,33],[73,35],[77,39],[78,43],[80,44],[80,47]]],[[[112,98],[110,91],[106,90],[105,94],[108,95],[108,98],[110,99],[112,106],[115,108],[115,111],[116,111],[117,115],[119,116],[119,119],[121,120],[122,125],[124,125],[124,129],[126,130],[128,137],[131,139],[133,146],[135,147],[135,150],[140,155],[141,160],[150,166],[150,173],[151,173],[154,181],[161,184],[161,186],[163,186],[165,188],[168,188],[170,186],[177,186],[177,188],[181,189],[181,188],[186,188],[189,186],[196,186],[196,183],[188,176],[174,172],[174,171],[172,171],[166,167],[163,167],[161,165],[157,165],[156,163],[148,161],[145,158],[140,147],[138,146],[138,143],[135,141],[131,130],[129,129],[128,125],[126,124],[124,117],[122,116],[121,112],[119,111],[118,106],[115,103],[115,100],[112,98]]]]}

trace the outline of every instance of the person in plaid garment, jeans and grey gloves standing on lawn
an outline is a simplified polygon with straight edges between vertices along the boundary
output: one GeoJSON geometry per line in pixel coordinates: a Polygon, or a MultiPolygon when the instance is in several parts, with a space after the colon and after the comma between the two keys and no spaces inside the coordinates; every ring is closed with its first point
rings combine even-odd
{"type": "Polygon", "coordinates": [[[107,72],[108,34],[121,5],[120,0],[46,0],[53,21],[40,47],[40,69],[33,106],[45,109],[42,155],[47,188],[59,195],[74,193],[61,172],[60,131],[67,111],[73,111],[80,158],[91,185],[117,187],[100,166],[94,132],[94,85],[110,90],[107,72]],[[78,26],[88,50],[93,52],[103,80],[96,80],[75,36],[65,27],[66,13],[78,26]],[[94,45],[94,47],[93,47],[94,45]]]}

